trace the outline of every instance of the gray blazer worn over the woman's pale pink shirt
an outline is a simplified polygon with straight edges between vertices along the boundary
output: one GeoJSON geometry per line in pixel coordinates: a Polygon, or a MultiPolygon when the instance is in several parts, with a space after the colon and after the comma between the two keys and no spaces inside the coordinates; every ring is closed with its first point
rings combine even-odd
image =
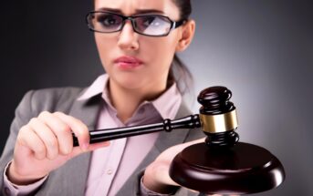
{"type": "MultiPolygon", "coordinates": [[[[3,173],[5,165],[12,160],[18,130],[41,111],[62,111],[73,117],[81,119],[89,129],[95,129],[97,115],[103,100],[99,95],[88,100],[77,100],[85,88],[49,88],[33,90],[26,93],[16,108],[10,135],[6,141],[5,150],[0,159],[0,191],[5,194],[3,173]]],[[[184,104],[179,108],[177,118],[190,115],[191,112],[184,104]]],[[[167,148],[185,141],[203,138],[203,133],[198,130],[173,130],[171,133],[162,132],[151,151],[142,160],[140,166],[130,175],[117,195],[140,195],[140,179],[143,170],[167,148]]],[[[40,187],[36,195],[84,195],[85,185],[89,175],[90,152],[68,160],[57,170],[50,172],[47,181],[40,187]]],[[[186,189],[180,189],[176,195],[194,195],[186,189]]]]}

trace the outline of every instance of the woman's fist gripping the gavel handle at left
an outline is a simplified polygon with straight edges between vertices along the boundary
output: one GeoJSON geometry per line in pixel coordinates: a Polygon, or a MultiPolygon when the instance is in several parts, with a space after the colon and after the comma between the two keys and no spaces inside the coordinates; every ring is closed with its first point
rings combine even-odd
{"type": "Polygon", "coordinates": [[[89,130],[79,119],[43,111],[18,132],[6,175],[17,185],[33,183],[78,154],[109,145],[109,141],[89,145],[89,130]],[[79,147],[73,147],[72,133],[78,138],[79,147]]]}

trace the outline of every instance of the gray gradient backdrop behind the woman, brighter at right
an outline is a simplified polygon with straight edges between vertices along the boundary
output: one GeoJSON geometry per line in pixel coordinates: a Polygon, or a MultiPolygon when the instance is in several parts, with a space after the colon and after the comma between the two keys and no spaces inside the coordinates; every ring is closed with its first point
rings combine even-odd
{"type": "MultiPolygon", "coordinates": [[[[27,90],[87,86],[103,70],[84,21],[90,1],[5,1],[1,9],[2,151],[27,90]]],[[[313,195],[312,10],[310,1],[193,0],[196,36],[180,57],[195,94],[230,88],[241,141],[270,150],[287,172],[280,187],[255,195],[313,195]]]]}

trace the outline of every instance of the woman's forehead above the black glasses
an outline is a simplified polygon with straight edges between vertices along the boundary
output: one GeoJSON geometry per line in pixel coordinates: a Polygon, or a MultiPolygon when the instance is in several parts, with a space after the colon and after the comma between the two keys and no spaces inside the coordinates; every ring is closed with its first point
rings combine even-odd
{"type": "Polygon", "coordinates": [[[101,8],[120,10],[123,15],[135,15],[138,10],[158,10],[172,17],[179,15],[172,0],[95,0],[95,9],[101,8]]]}

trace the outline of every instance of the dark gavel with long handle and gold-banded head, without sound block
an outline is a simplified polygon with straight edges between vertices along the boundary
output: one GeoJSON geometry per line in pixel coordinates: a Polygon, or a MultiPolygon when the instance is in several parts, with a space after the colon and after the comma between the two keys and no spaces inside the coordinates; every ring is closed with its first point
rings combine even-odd
{"type": "MultiPolygon", "coordinates": [[[[225,132],[226,130],[235,130],[238,125],[234,104],[226,101],[223,112],[214,110],[216,107],[220,107],[219,101],[224,101],[224,99],[228,100],[231,97],[230,93],[231,92],[227,88],[223,87],[207,88],[198,96],[198,101],[203,104],[200,114],[190,115],[182,119],[164,119],[162,122],[154,124],[114,129],[90,130],[90,143],[127,138],[158,131],[170,132],[173,129],[195,128],[202,128],[204,134],[208,136],[210,136],[210,133],[226,133],[226,135],[228,135],[228,133],[232,133],[232,135],[235,134],[235,137],[228,137],[228,139],[233,138],[237,141],[238,135],[235,132],[225,132]],[[223,92],[223,90],[227,91],[223,92]],[[228,97],[223,97],[223,100],[219,100],[219,98],[221,98],[220,95],[223,93],[226,93],[228,97]]],[[[216,134],[211,136],[214,137],[216,134]]],[[[74,135],[73,139],[74,146],[78,146],[78,139],[74,135]]],[[[224,142],[224,145],[226,144],[229,144],[229,142],[224,142]]]]}

